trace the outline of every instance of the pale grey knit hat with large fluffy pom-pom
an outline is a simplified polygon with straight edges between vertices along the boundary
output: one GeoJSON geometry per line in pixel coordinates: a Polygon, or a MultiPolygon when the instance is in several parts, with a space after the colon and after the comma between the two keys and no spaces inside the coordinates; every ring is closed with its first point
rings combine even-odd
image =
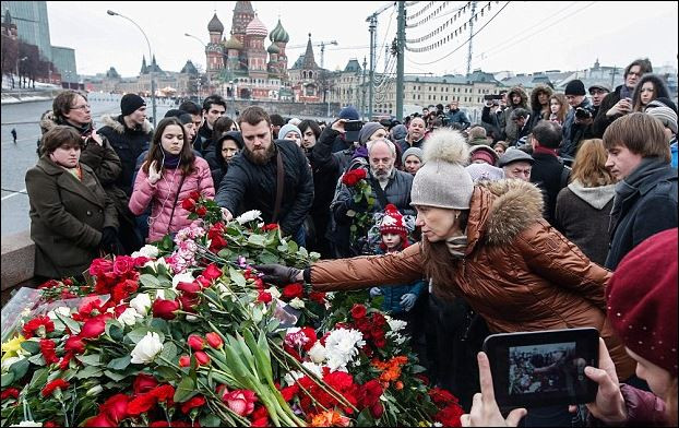
{"type": "Polygon", "coordinates": [[[469,146],[460,131],[441,128],[425,142],[425,165],[413,179],[410,205],[468,210],[474,181],[465,169],[469,146]]]}

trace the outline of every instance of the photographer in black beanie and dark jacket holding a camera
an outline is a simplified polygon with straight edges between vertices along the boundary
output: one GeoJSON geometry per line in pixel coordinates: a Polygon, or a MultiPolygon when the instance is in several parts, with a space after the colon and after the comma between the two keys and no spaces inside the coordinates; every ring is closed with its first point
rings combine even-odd
{"type": "Polygon", "coordinates": [[[575,157],[582,140],[592,138],[595,112],[585,94],[585,85],[577,79],[570,81],[565,86],[565,99],[572,109],[563,122],[563,142],[559,154],[567,159],[575,157]]]}

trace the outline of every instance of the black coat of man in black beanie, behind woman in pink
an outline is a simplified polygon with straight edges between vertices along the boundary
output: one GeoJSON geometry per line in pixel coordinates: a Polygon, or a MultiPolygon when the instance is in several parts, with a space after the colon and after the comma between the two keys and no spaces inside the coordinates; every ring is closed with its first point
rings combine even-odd
{"type": "Polygon", "coordinates": [[[134,181],[134,167],[136,158],[142,152],[148,150],[153,136],[153,129],[148,120],[138,129],[130,129],[124,124],[122,115],[102,117],[102,127],[98,133],[106,136],[120,158],[122,171],[116,180],[116,186],[126,192],[128,198],[132,195],[134,181]]]}

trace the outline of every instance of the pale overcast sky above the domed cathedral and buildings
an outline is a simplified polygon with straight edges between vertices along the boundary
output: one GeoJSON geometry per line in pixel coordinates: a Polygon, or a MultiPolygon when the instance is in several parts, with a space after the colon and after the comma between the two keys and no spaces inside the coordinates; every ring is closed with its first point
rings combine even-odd
{"type": "MultiPolygon", "coordinates": [[[[147,56],[148,48],[136,27],[120,16],[109,16],[107,9],[127,15],[144,28],[160,68],[179,71],[188,59],[205,67],[203,46],[184,36],[184,33],[207,43],[207,23],[216,10],[228,38],[235,3],[48,1],[47,9],[51,44],[75,49],[79,73],[96,74],[115,67],[121,75],[133,76],[138,75],[141,58],[147,56]]],[[[390,4],[383,1],[252,3],[270,32],[281,17],[290,35],[288,67],[303,54],[308,33],[311,33],[314,43],[336,40],[337,46],[325,49],[325,68],[330,70],[343,69],[349,58],[358,58],[362,62],[367,57],[369,61],[366,17],[390,4]],[[291,48],[294,46],[301,47],[291,48]]],[[[408,7],[408,15],[416,14],[428,3],[419,1],[408,7]]],[[[478,8],[487,3],[479,1],[478,8]]],[[[408,28],[406,38],[421,37],[434,31],[454,15],[450,11],[463,4],[465,2],[449,2],[436,19],[408,28]]],[[[677,67],[676,1],[512,1],[503,9],[505,4],[505,1],[492,1],[490,12],[486,11],[475,22],[475,32],[487,25],[474,37],[473,69],[493,72],[575,70],[591,67],[596,58],[603,66],[624,67],[638,57],[650,58],[654,66],[677,67]]],[[[427,16],[429,11],[420,16],[427,16]]],[[[465,16],[468,19],[468,12],[465,16]]],[[[414,19],[412,23],[418,20],[414,19]]],[[[461,21],[464,22],[457,20],[444,33],[456,28],[461,21]]],[[[396,8],[389,8],[379,15],[378,44],[382,45],[384,40],[391,43],[395,33],[396,8]]],[[[437,75],[465,73],[467,46],[461,45],[467,39],[468,28],[463,37],[436,50],[421,54],[406,51],[405,71],[437,75]],[[436,62],[427,64],[432,61],[436,62]]],[[[314,54],[320,64],[320,47],[314,47],[314,54]]],[[[377,56],[376,70],[382,72],[386,59],[384,49],[380,49],[377,56]]],[[[395,67],[393,69],[395,71],[395,67]]]]}

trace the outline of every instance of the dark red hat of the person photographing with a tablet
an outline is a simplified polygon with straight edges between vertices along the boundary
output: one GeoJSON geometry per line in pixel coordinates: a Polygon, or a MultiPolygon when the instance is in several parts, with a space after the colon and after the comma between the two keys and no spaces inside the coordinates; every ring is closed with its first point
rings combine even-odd
{"type": "Polygon", "coordinates": [[[606,289],[608,320],[624,346],[677,377],[677,228],[630,251],[606,289]]]}

